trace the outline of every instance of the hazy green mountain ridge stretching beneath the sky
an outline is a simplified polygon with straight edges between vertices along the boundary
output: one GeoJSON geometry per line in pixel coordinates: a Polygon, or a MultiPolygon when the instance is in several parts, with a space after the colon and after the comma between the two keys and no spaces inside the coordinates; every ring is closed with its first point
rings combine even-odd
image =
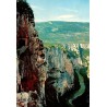
{"type": "Polygon", "coordinates": [[[36,29],[44,43],[90,43],[88,22],[39,22],[36,29]]]}

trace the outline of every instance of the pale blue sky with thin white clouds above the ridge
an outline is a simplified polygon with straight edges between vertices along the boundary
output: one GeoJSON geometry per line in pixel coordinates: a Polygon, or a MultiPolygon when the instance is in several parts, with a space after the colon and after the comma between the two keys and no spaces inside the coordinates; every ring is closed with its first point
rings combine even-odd
{"type": "Polygon", "coordinates": [[[90,22],[90,0],[26,0],[35,22],[90,22]]]}

